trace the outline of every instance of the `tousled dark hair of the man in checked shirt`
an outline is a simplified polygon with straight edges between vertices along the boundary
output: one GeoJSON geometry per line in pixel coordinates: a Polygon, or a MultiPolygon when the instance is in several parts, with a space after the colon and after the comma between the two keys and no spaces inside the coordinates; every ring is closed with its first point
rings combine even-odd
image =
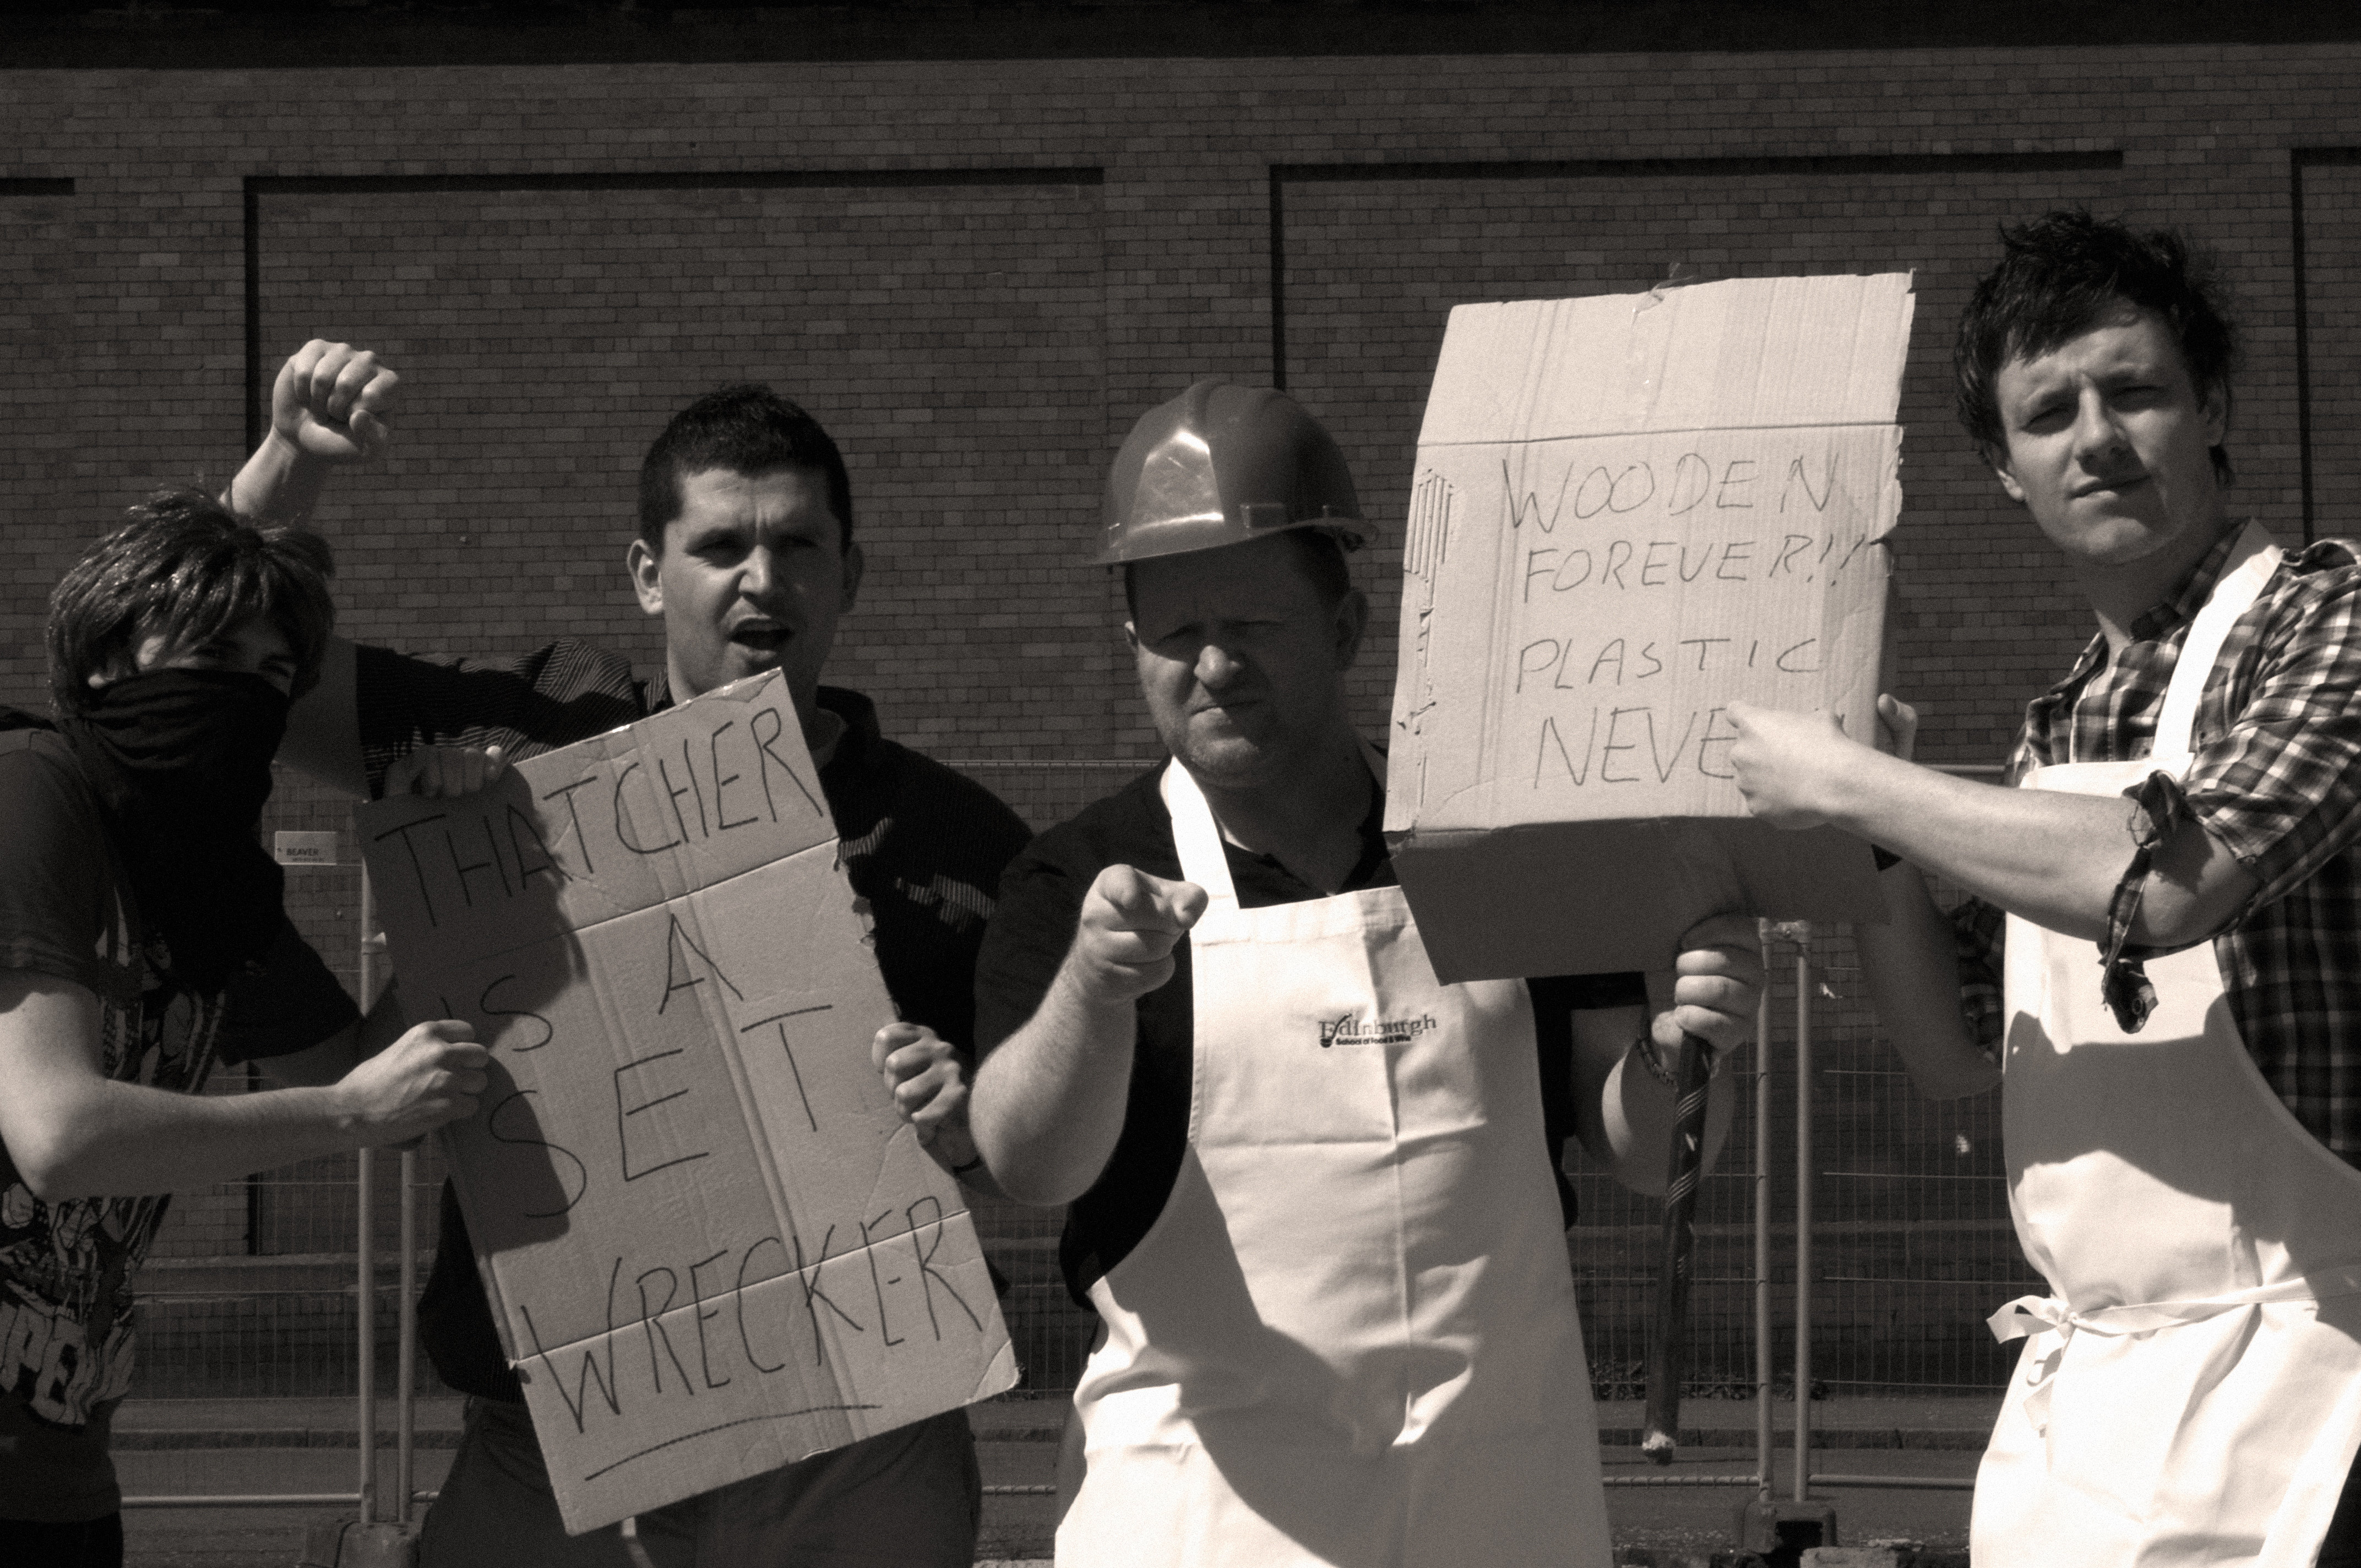
{"type": "MultiPolygon", "coordinates": [[[[1993,267],[1967,312],[1953,368],[1960,375],[1960,423],[1986,460],[2007,453],[1995,383],[2016,359],[2047,354],[2125,309],[2153,312],[2189,364],[2200,399],[2229,409],[2238,333],[2208,255],[2172,229],[2137,234],[2115,217],[2059,210],[2000,229],[1993,267]]],[[[2231,482],[2229,453],[2212,449],[2215,479],[2231,482]]]]}

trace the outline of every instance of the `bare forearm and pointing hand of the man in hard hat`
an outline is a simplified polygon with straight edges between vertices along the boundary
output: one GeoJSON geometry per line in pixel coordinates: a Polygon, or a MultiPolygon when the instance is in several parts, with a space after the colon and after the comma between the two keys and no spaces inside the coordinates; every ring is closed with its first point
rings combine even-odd
{"type": "Polygon", "coordinates": [[[1133,867],[1091,883],[1041,1006],[975,1072],[975,1145],[1018,1202],[1072,1202],[1107,1167],[1131,1098],[1136,1004],[1171,980],[1173,947],[1204,904],[1197,883],[1133,867]]]}

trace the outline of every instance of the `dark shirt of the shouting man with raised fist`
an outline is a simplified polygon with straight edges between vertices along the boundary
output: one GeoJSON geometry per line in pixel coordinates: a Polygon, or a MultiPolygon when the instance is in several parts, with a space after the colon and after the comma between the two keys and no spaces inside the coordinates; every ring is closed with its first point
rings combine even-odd
{"type": "MultiPolygon", "coordinates": [[[[501,746],[522,760],[671,706],[659,675],[588,642],[552,642],[515,664],[432,661],[361,647],[357,666],[368,793],[416,746],[501,746]]],[[[859,692],[819,687],[843,720],[819,789],[836,819],[845,874],[869,902],[878,973],[895,1011],[961,1051],[975,1037],[975,952],[992,919],[1001,867],[1025,845],[1025,822],[942,763],[878,732],[859,692]]],[[[458,1197],[444,1183],[434,1270],[418,1296],[418,1339],[460,1393],[522,1400],[484,1301],[458,1197]]]]}

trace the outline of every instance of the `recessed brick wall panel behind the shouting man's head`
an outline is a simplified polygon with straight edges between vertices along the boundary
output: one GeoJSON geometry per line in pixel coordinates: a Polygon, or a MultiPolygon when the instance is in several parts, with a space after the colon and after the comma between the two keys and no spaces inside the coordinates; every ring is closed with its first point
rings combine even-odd
{"type": "Polygon", "coordinates": [[[930,751],[1105,749],[1100,583],[1036,569],[1096,529],[1098,231],[1091,184],[264,196],[267,361],[335,335],[404,373],[394,453],[323,508],[349,631],[656,668],[623,574],[640,456],[689,397],[765,380],[852,470],[869,576],[831,678],[930,751]],[[1046,723],[1077,685],[1081,723],[1046,723]]]}

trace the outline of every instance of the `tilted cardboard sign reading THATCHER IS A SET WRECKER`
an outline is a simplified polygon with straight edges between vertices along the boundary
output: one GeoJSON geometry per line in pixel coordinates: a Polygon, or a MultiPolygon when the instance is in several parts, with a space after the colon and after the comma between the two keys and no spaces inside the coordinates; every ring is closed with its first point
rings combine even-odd
{"type": "Polygon", "coordinates": [[[1015,1381],[786,682],[364,810],[404,1006],[491,1093],[451,1171],[569,1530],[1015,1381]]]}

